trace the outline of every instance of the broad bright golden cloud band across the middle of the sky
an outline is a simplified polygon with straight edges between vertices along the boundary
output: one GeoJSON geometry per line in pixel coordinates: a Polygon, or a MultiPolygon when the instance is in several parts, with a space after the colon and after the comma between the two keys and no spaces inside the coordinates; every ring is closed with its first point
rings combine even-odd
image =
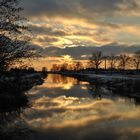
{"type": "MultiPolygon", "coordinates": [[[[71,46],[101,46],[112,42],[120,44],[139,44],[140,33],[139,25],[108,25],[104,26],[97,23],[85,23],[84,21],[65,19],[48,19],[43,18],[40,24],[34,21],[30,23],[36,38],[34,44],[40,44],[42,47],[71,47],[71,46]],[[77,24],[78,23],[78,24],[77,24]],[[48,36],[56,38],[56,41],[50,43],[39,42],[37,38],[48,36]],[[37,43],[38,42],[38,43],[37,43]]],[[[47,40],[46,40],[47,42],[47,40]]]]}

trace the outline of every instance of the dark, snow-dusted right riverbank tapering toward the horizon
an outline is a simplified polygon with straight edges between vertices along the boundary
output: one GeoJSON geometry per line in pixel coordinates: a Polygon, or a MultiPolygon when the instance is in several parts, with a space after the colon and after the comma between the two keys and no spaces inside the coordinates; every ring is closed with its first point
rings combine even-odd
{"type": "MultiPolygon", "coordinates": [[[[56,74],[56,73],[54,73],[56,74]]],[[[140,78],[137,75],[104,75],[104,74],[88,74],[88,73],[68,73],[60,72],[63,76],[76,78],[78,81],[88,82],[90,90],[98,92],[103,96],[109,94],[113,96],[120,95],[136,100],[140,100],[140,78]]],[[[95,92],[93,92],[95,93],[95,92]]]]}

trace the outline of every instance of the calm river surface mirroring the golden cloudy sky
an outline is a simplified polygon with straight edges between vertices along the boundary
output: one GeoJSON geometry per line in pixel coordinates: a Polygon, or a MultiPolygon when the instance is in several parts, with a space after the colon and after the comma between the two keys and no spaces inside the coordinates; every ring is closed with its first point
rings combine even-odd
{"type": "MultiPolygon", "coordinates": [[[[48,75],[29,91],[22,117],[29,140],[140,140],[139,96],[130,97],[97,83],[48,75]]],[[[135,90],[134,90],[135,94],[135,90]]]]}

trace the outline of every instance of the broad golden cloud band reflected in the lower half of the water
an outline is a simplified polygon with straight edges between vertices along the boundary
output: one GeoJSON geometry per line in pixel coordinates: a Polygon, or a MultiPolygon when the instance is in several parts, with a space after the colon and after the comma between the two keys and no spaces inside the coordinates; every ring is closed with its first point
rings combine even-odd
{"type": "Polygon", "coordinates": [[[140,118],[140,108],[124,104],[123,100],[113,102],[109,99],[93,101],[65,96],[55,99],[43,97],[34,102],[33,109],[38,116],[29,119],[28,123],[41,128],[63,127],[68,124],[85,125],[89,121],[127,121],[140,118]]]}

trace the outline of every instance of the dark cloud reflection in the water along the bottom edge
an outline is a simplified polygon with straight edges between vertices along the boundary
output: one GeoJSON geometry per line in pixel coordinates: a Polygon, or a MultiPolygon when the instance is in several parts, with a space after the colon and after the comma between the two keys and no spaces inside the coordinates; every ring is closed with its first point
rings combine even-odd
{"type": "MultiPolygon", "coordinates": [[[[127,122],[126,122],[127,123],[127,122]]],[[[39,140],[138,140],[139,133],[127,130],[126,128],[122,129],[121,126],[102,126],[102,123],[97,124],[96,122],[89,122],[86,126],[77,126],[77,127],[64,127],[64,128],[49,128],[45,130],[36,130],[38,131],[39,140]],[[101,126],[100,126],[101,125],[101,126]],[[98,127],[97,127],[98,126],[98,127]]],[[[131,129],[133,129],[131,127],[131,129]]],[[[34,140],[33,137],[30,140],[34,140]]]]}

